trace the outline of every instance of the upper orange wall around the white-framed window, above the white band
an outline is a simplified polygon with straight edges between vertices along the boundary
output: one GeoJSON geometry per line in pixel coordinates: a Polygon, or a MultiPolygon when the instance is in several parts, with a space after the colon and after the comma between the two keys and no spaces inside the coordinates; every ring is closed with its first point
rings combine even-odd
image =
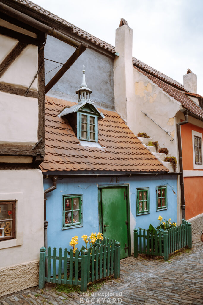
{"type": "Polygon", "coordinates": [[[203,129],[190,123],[184,124],[180,128],[182,141],[183,170],[194,170],[192,130],[201,132],[203,134],[203,129]]]}

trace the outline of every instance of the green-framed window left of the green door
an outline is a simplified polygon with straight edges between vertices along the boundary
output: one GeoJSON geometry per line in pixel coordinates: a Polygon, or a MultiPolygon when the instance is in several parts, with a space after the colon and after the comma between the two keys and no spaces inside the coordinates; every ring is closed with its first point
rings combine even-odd
{"type": "Polygon", "coordinates": [[[82,195],[63,195],[62,229],[82,227],[82,195]]]}

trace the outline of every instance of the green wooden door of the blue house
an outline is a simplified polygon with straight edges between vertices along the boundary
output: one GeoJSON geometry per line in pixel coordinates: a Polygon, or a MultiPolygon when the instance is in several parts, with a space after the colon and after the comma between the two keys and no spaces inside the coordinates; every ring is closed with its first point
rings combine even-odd
{"type": "Polygon", "coordinates": [[[102,188],[101,190],[103,236],[121,243],[121,258],[128,256],[129,249],[126,194],[126,187],[102,188]]]}

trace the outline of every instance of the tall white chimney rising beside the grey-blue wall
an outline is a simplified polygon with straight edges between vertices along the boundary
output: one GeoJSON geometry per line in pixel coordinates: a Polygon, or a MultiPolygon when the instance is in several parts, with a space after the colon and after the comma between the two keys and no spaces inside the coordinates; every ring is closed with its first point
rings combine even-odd
{"type": "Polygon", "coordinates": [[[121,18],[116,29],[115,50],[119,53],[114,59],[114,96],[115,110],[131,128],[132,113],[135,111],[135,89],[132,65],[132,29],[121,18]],[[129,114],[131,113],[131,116],[129,114]],[[130,118],[131,117],[131,118],[130,118]]]}

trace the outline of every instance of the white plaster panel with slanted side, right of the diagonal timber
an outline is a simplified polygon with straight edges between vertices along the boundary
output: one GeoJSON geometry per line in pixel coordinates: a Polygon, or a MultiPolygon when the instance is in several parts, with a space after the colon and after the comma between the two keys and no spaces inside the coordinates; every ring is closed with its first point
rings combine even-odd
{"type": "MultiPolygon", "coordinates": [[[[2,44],[2,41],[0,43],[2,44]]],[[[27,45],[3,76],[0,77],[0,82],[28,88],[37,74],[37,70],[38,47],[36,45],[27,45]]],[[[37,78],[33,82],[31,89],[38,90],[37,78]]]]}

